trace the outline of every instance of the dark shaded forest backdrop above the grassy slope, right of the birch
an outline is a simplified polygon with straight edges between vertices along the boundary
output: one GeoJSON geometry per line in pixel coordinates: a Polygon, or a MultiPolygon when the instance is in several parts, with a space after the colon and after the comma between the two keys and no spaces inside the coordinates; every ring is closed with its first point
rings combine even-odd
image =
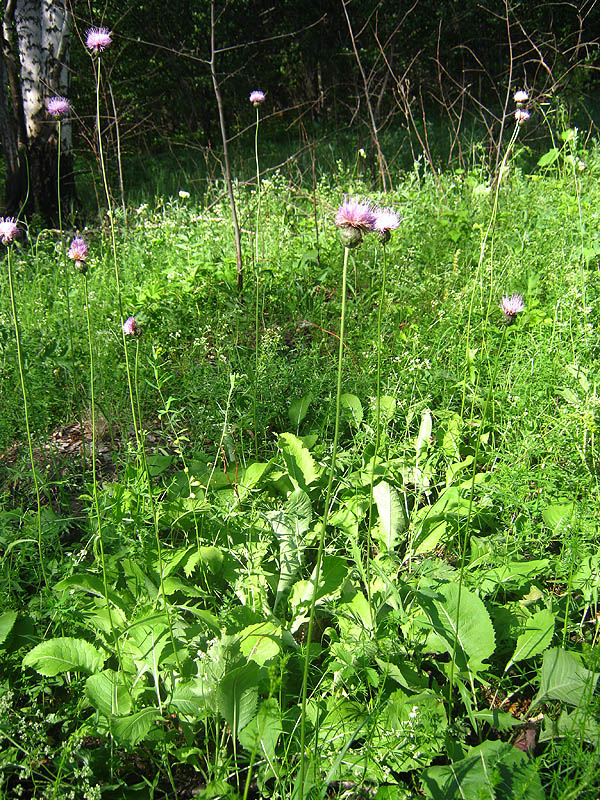
{"type": "MultiPolygon", "coordinates": [[[[134,152],[184,142],[219,149],[207,0],[74,0],[71,11],[76,151],[89,150],[95,138],[94,74],[84,47],[90,25],[114,32],[103,85],[109,138],[117,120],[122,146],[134,152]]],[[[460,156],[461,131],[473,119],[497,143],[516,87],[528,87],[538,101],[560,95],[594,119],[597,0],[489,7],[475,0],[231,0],[217,3],[216,14],[231,135],[248,124],[254,88],[266,91],[282,126],[363,126],[374,146],[388,129],[418,132],[424,116],[441,115],[451,157],[460,156]]]]}

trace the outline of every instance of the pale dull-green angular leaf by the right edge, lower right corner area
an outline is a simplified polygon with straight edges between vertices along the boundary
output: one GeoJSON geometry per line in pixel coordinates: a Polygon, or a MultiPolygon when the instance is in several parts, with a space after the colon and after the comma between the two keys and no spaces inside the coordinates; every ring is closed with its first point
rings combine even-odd
{"type": "Polygon", "coordinates": [[[530,710],[546,699],[562,700],[572,706],[591,697],[600,673],[592,672],[560,647],[546,650],[542,661],[540,688],[530,710]]]}

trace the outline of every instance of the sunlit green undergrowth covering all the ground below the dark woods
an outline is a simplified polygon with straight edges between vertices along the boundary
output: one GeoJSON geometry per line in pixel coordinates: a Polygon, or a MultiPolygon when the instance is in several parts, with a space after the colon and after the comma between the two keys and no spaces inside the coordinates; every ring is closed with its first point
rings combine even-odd
{"type": "Polygon", "coordinates": [[[597,797],[600,157],[563,142],[497,186],[419,163],[370,195],[404,219],[350,264],[333,475],[354,169],[262,183],[258,351],[251,188],[241,297],[218,186],[117,218],[141,433],[107,230],[83,231],[97,503],[65,446],[90,428],[83,279],[71,351],[55,232],[13,248],[42,508],[3,279],[3,796],[298,797],[309,648],[305,796],[597,797]]]}

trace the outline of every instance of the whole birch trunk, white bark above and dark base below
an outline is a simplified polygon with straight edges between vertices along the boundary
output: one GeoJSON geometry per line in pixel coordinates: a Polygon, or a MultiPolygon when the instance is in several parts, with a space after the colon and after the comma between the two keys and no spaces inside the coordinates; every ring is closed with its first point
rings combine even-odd
{"type": "MultiPolygon", "coordinates": [[[[28,195],[28,213],[56,222],[58,123],[48,116],[46,100],[69,94],[70,24],[66,0],[4,2],[0,136],[7,163],[5,214],[16,214],[28,195]]],[[[68,210],[75,197],[69,119],[61,123],[61,138],[61,200],[68,210]]]]}

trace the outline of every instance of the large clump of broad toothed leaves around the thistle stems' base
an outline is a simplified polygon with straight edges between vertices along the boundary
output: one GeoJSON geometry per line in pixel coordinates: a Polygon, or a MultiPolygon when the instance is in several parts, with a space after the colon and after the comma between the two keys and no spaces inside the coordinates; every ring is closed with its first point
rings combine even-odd
{"type": "MultiPolygon", "coordinates": [[[[296,429],[309,406],[306,397],[291,404],[296,429]]],[[[358,397],[344,395],[343,406],[343,424],[373,424],[358,397]]],[[[59,581],[53,591],[70,596],[81,635],[40,642],[24,667],[50,682],[70,676],[74,687],[81,676],[89,731],[121,747],[162,743],[206,781],[233,768],[246,794],[241,766],[250,765],[268,796],[296,780],[308,652],[305,747],[320,759],[307,763],[304,796],[324,797],[336,781],[399,791],[401,776],[420,770],[431,798],[471,796],[474,784],[543,797],[526,753],[506,741],[521,725],[510,698],[527,698],[530,715],[546,709],[542,740],[584,723],[593,739],[586,707],[598,673],[564,635],[559,643],[577,609],[542,588],[550,558],[499,564],[504,526],[490,473],[476,471],[458,415],[441,417],[434,438],[426,410],[399,443],[387,436],[394,399],[382,396],[381,407],[388,455],[342,446],[333,476],[316,435],[284,433],[276,456],[245,469],[198,457],[176,471],[175,457],[150,457],[157,511],[143,475],[105,485],[104,529],[122,542],[105,560],[108,593],[97,570],[59,581]],[[170,539],[160,562],[156,513],[170,539]],[[450,554],[465,535],[461,582],[450,554]],[[442,754],[451,765],[431,766],[442,754]]],[[[563,526],[569,513],[549,507],[546,524],[563,526]]],[[[573,576],[584,617],[598,602],[598,565],[586,569],[573,576]]],[[[16,619],[2,618],[5,647],[16,619]]]]}

